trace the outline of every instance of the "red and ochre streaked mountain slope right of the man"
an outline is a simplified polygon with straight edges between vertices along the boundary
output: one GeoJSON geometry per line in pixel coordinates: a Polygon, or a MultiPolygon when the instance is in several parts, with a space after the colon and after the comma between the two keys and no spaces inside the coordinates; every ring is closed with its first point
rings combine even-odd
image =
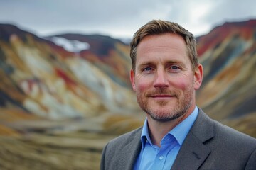
{"type": "Polygon", "coordinates": [[[198,38],[198,54],[204,67],[198,105],[210,117],[255,136],[256,20],[214,28],[198,38]]]}

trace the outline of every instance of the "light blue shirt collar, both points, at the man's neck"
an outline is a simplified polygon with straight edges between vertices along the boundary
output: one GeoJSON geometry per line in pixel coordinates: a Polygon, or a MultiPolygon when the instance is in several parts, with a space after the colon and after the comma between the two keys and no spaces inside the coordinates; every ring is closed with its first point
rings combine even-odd
{"type": "MultiPolygon", "coordinates": [[[[175,128],[173,128],[168,134],[173,135],[175,139],[177,140],[179,145],[183,144],[183,141],[186,138],[186,135],[188,135],[189,130],[191,129],[193,123],[196,120],[196,117],[198,115],[198,107],[196,106],[191,115],[188,116],[185,120],[183,120],[181,123],[176,125],[175,128]]],[[[148,141],[152,146],[151,139],[149,137],[149,129],[147,125],[147,118],[144,121],[144,125],[142,128],[142,135],[141,135],[141,141],[142,141],[142,148],[144,149],[146,145],[146,141],[148,141]]]]}

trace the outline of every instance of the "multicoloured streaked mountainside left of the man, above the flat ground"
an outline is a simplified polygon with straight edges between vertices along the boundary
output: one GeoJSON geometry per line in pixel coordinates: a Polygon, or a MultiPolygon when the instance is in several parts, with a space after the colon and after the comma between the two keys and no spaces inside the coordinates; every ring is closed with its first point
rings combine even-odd
{"type": "Polygon", "coordinates": [[[70,52],[15,26],[0,29],[2,108],[11,103],[58,119],[136,106],[128,85],[129,47],[121,41],[100,35],[55,36],[90,44],[88,50],[70,52]]]}

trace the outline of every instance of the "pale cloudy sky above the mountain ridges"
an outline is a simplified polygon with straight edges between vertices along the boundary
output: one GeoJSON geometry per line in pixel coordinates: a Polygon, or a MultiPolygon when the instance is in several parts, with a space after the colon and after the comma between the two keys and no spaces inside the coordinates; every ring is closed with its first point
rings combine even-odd
{"type": "Polygon", "coordinates": [[[0,23],[38,36],[60,33],[132,38],[152,19],[179,23],[195,36],[225,22],[256,19],[255,0],[0,0],[0,23]]]}

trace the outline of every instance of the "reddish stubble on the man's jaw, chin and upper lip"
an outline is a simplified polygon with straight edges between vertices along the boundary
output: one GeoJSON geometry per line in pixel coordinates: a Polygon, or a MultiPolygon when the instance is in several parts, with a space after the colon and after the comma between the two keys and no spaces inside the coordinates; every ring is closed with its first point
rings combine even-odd
{"type": "MultiPolygon", "coordinates": [[[[146,94],[142,96],[142,94],[137,95],[137,101],[139,103],[139,106],[142,108],[144,112],[146,112],[152,119],[159,121],[159,122],[167,122],[170,120],[174,120],[176,118],[180,118],[182,115],[188,112],[188,109],[191,107],[192,101],[193,101],[193,91],[192,89],[188,89],[188,91],[185,91],[183,95],[179,93],[178,91],[166,91],[164,89],[160,89],[153,94],[171,94],[176,96],[176,106],[174,108],[169,110],[161,110],[152,108],[150,106],[148,99],[148,96],[150,96],[152,93],[146,94]]],[[[169,101],[158,101],[157,102],[159,107],[165,107],[168,105],[169,101]]]]}

